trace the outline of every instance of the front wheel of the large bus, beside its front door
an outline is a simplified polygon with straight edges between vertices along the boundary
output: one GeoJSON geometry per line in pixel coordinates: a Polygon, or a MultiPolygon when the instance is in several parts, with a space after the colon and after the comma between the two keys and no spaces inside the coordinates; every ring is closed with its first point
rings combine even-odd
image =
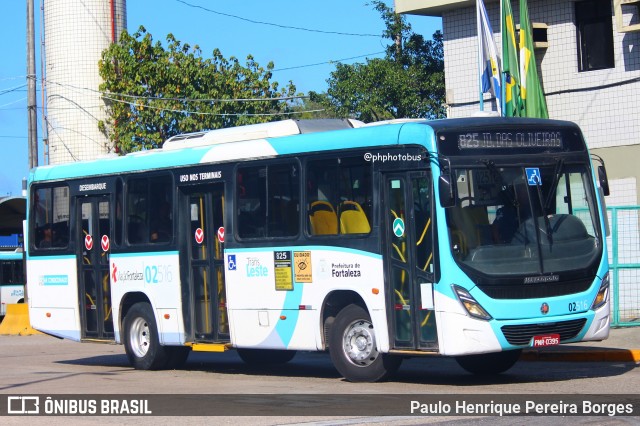
{"type": "Polygon", "coordinates": [[[402,358],[378,352],[369,313],[348,305],[329,331],[329,353],[338,372],[350,382],[378,382],[393,375],[402,358]]]}

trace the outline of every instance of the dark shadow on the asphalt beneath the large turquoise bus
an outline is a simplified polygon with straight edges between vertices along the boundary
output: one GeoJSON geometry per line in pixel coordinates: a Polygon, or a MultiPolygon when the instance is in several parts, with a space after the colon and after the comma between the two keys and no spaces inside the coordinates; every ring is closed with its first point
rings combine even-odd
{"type": "MultiPolygon", "coordinates": [[[[101,355],[58,361],[60,364],[131,368],[126,355],[101,355]]],[[[396,383],[458,386],[501,385],[513,383],[562,382],[576,379],[605,378],[623,375],[637,368],[624,362],[549,362],[519,361],[498,375],[474,375],[463,370],[453,358],[416,357],[405,359],[390,379],[396,383]]],[[[271,377],[310,377],[344,380],[327,353],[299,352],[286,364],[250,365],[235,351],[223,354],[193,352],[177,371],[201,371],[215,374],[243,374],[271,377]]]]}

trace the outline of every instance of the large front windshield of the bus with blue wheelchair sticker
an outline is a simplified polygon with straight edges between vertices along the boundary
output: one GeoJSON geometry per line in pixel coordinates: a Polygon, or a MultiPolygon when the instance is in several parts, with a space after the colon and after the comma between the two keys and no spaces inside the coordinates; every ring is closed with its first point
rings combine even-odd
{"type": "Polygon", "coordinates": [[[482,160],[456,169],[455,177],[458,202],[446,217],[461,266],[484,275],[533,276],[598,261],[602,237],[587,165],[482,160]]]}

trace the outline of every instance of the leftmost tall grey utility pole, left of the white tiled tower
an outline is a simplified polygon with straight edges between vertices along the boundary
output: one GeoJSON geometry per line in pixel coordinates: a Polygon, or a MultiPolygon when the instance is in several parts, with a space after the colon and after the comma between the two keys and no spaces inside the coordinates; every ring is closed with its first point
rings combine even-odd
{"type": "Polygon", "coordinates": [[[29,116],[29,169],[38,165],[38,123],[36,116],[36,52],[33,0],[27,0],[27,112],[29,116]]]}

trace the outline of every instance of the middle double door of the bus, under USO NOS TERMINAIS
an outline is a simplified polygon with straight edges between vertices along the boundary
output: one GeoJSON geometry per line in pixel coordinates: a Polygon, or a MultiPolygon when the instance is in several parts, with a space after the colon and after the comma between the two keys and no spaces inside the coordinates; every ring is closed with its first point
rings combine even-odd
{"type": "MultiPolygon", "coordinates": [[[[196,342],[228,342],[229,322],[224,284],[224,184],[185,189],[181,220],[189,274],[187,332],[196,342]],[[190,315],[189,315],[190,313],[190,315]]],[[[184,265],[184,264],[183,264],[184,265]]]]}

